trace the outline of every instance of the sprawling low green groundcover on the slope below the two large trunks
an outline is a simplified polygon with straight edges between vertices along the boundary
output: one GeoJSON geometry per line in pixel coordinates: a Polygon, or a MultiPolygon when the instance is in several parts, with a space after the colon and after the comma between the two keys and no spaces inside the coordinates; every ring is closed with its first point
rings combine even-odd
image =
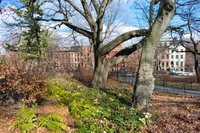
{"type": "Polygon", "coordinates": [[[53,81],[49,92],[59,104],[67,105],[70,113],[78,119],[78,133],[138,132],[142,126],[149,126],[149,120],[153,118],[150,114],[131,108],[130,98],[127,96],[130,93],[124,88],[98,90],[71,89],[69,86],[64,87],[53,81]]]}

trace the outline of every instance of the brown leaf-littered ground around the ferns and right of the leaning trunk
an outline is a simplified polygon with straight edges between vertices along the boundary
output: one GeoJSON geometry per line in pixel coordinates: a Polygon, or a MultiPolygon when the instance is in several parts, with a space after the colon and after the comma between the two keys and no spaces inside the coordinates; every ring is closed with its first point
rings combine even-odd
{"type": "MultiPolygon", "coordinates": [[[[110,83],[119,86],[116,83],[110,83]]],[[[122,85],[122,84],[120,84],[122,85]]],[[[127,86],[127,85],[125,85],[127,86]]],[[[18,133],[9,131],[8,127],[16,120],[17,109],[0,106],[0,133],[18,133]]],[[[37,113],[57,112],[66,117],[66,124],[74,128],[74,119],[69,115],[67,108],[58,108],[55,105],[39,107],[37,113]]],[[[157,116],[150,130],[143,129],[142,133],[200,133],[200,99],[183,97],[165,92],[154,92],[151,100],[150,113],[157,116]]],[[[37,133],[45,130],[37,130],[37,133]]]]}

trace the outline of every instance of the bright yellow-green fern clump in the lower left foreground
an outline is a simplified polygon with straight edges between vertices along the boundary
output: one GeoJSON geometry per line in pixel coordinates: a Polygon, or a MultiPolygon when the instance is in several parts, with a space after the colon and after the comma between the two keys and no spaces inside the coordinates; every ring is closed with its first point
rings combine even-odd
{"type": "Polygon", "coordinates": [[[10,129],[19,128],[22,133],[30,132],[38,127],[45,127],[49,131],[58,133],[67,130],[63,116],[56,113],[36,116],[35,106],[28,108],[26,105],[22,105],[17,116],[19,119],[10,126],[10,129]]]}

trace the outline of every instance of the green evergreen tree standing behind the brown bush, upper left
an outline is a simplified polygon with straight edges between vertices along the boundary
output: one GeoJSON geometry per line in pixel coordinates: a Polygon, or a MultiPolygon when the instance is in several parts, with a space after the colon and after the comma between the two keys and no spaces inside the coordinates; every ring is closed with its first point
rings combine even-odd
{"type": "MultiPolygon", "coordinates": [[[[21,7],[15,9],[10,7],[16,14],[13,17],[14,23],[4,22],[7,26],[19,27],[22,29],[20,32],[20,42],[17,44],[18,50],[22,50],[28,53],[30,58],[41,60],[45,56],[46,50],[52,47],[54,44],[53,38],[47,29],[42,28],[42,25],[38,21],[42,18],[43,11],[41,10],[38,2],[31,2],[30,0],[20,0],[21,7]]],[[[9,46],[7,48],[13,48],[16,46],[9,46]]]]}

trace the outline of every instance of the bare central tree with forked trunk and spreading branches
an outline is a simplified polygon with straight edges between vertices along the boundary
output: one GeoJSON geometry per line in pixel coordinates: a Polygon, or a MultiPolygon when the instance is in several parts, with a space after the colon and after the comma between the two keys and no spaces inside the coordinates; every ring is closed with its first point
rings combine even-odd
{"type": "MultiPolygon", "coordinates": [[[[148,33],[146,29],[133,30],[121,34],[106,43],[104,41],[103,26],[105,24],[105,12],[111,2],[112,0],[80,0],[78,2],[72,0],[47,0],[45,3],[51,3],[54,8],[46,8],[51,14],[41,19],[42,21],[54,21],[63,24],[89,39],[93,47],[95,61],[92,84],[97,88],[106,87],[108,72],[111,70],[112,66],[125,57],[123,54],[123,56],[118,54],[118,57],[107,59],[106,55],[123,42],[133,37],[145,36],[148,33]],[[57,9],[55,7],[57,7],[57,9]],[[58,14],[62,17],[56,17],[58,14]],[[82,23],[80,24],[80,21],[77,23],[77,18],[82,20],[81,22],[83,22],[84,25],[82,23]],[[74,20],[76,20],[76,22],[74,20]]],[[[107,25],[109,26],[110,23],[107,25]]],[[[133,46],[131,51],[133,52],[137,48],[137,46],[133,46]]]]}

